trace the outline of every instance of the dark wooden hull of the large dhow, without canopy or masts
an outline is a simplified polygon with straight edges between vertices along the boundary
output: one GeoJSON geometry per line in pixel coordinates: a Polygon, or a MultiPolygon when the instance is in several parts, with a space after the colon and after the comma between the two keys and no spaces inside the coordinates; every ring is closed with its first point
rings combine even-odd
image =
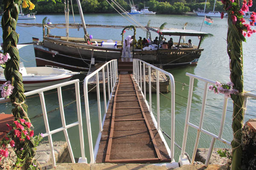
{"type": "MultiPolygon", "coordinates": [[[[82,39],[81,39],[82,40],[82,39]]],[[[87,45],[81,40],[65,41],[61,38],[44,38],[43,44],[34,44],[37,66],[54,65],[76,71],[88,71],[91,61],[107,62],[121,57],[121,48],[104,48],[87,45]]],[[[120,47],[120,41],[118,46],[120,47]]],[[[159,50],[134,50],[133,58],[142,59],[164,69],[195,65],[202,48],[180,48],[159,50]]],[[[131,51],[132,53],[132,51],[131,51]]]]}

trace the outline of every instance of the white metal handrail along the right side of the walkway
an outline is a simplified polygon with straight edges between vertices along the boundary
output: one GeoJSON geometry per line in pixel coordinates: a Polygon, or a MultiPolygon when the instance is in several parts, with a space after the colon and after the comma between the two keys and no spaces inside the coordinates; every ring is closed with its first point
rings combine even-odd
{"type": "Polygon", "coordinates": [[[154,122],[155,127],[157,127],[157,131],[161,136],[161,139],[163,140],[163,142],[165,142],[166,145],[166,149],[168,150],[168,153],[171,157],[172,160],[174,160],[174,138],[175,138],[175,131],[174,131],[174,127],[175,127],[175,81],[174,78],[172,76],[172,74],[170,74],[167,71],[163,71],[160,68],[155,67],[154,65],[148,64],[147,62],[144,62],[143,60],[140,59],[133,59],[133,77],[135,79],[135,81],[137,82],[137,84],[139,85],[141,94],[143,95],[143,99],[148,107],[148,110],[151,114],[152,120],[154,122]],[[146,79],[145,79],[145,74],[146,74],[146,67],[147,67],[147,71],[148,71],[148,101],[146,99],[146,79]],[[151,97],[151,70],[156,70],[156,85],[157,85],[157,89],[156,89],[156,94],[157,94],[157,120],[154,118],[154,115],[152,113],[152,97],[151,97]],[[170,79],[170,89],[171,89],[171,147],[168,148],[168,145],[166,144],[166,141],[164,139],[162,130],[160,128],[160,92],[159,92],[159,73],[165,74],[167,77],[169,77],[170,79]],[[148,103],[149,102],[149,103],[148,103]]]}

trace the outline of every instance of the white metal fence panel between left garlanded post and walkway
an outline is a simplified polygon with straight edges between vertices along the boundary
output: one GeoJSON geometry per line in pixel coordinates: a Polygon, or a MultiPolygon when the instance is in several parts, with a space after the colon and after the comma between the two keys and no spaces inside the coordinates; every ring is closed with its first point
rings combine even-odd
{"type": "MultiPolygon", "coordinates": [[[[84,134],[83,134],[83,128],[82,128],[83,125],[82,125],[82,116],[81,116],[79,79],[71,80],[69,82],[63,82],[63,83],[60,83],[60,84],[57,84],[57,85],[52,85],[52,86],[37,89],[37,90],[34,90],[34,91],[29,91],[29,92],[26,92],[24,94],[26,96],[31,96],[33,94],[39,94],[39,96],[40,96],[41,106],[42,106],[42,111],[43,111],[43,116],[44,116],[44,125],[45,125],[45,128],[46,128],[46,133],[44,133],[44,137],[48,136],[49,146],[50,146],[50,151],[51,151],[51,158],[52,158],[52,166],[53,167],[56,166],[55,154],[54,154],[53,143],[52,143],[52,134],[58,133],[60,131],[64,132],[72,163],[76,163],[74,155],[73,155],[72,147],[71,147],[71,144],[70,144],[70,139],[69,139],[68,133],[67,133],[68,128],[74,127],[76,125],[79,126],[79,138],[80,138],[80,147],[81,147],[81,156],[82,156],[81,158],[79,158],[79,163],[87,163],[87,159],[85,157],[85,152],[84,152],[84,134]],[[63,107],[63,102],[62,102],[61,87],[66,86],[66,85],[71,85],[71,84],[75,84],[75,89],[76,89],[76,109],[77,109],[78,121],[74,122],[74,123],[71,123],[69,125],[66,125],[65,115],[64,115],[64,107],[63,107]],[[45,100],[44,100],[44,91],[49,91],[49,90],[52,90],[52,89],[55,89],[55,88],[58,89],[58,100],[59,100],[59,106],[60,106],[62,127],[58,128],[58,129],[55,129],[55,130],[50,130],[49,122],[48,122],[48,118],[47,118],[46,105],[45,105],[45,100]]],[[[10,100],[9,99],[4,99],[4,98],[0,99],[0,102],[4,102],[4,101],[8,102],[10,100]]]]}

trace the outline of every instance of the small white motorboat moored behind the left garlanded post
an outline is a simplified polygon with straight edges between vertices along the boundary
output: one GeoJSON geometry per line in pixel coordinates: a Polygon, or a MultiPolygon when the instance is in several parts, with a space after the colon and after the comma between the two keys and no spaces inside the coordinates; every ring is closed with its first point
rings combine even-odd
{"type": "MultiPolygon", "coordinates": [[[[3,71],[4,69],[0,68],[0,85],[3,85],[3,83],[6,82],[3,71]]],[[[67,82],[73,75],[80,74],[80,72],[73,72],[65,70],[64,68],[57,68],[49,65],[46,65],[45,67],[25,68],[23,63],[20,63],[20,73],[23,77],[25,91],[32,91],[50,85],[67,82]]]]}

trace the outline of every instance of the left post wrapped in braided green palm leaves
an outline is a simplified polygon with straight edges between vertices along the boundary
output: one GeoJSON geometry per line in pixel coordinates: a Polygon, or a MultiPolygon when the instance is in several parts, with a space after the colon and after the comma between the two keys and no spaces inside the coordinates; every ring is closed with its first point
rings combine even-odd
{"type": "MultiPolygon", "coordinates": [[[[29,3],[29,9],[32,9],[34,4],[29,0],[26,0],[29,3]]],[[[23,4],[28,7],[28,4],[25,0],[23,4]]],[[[19,62],[20,56],[17,49],[17,43],[19,34],[16,33],[16,25],[18,20],[18,14],[20,12],[19,6],[22,1],[18,1],[18,4],[14,0],[3,0],[4,4],[4,13],[1,20],[1,25],[3,29],[3,52],[9,53],[10,59],[6,62],[6,68],[4,70],[4,75],[7,81],[10,81],[11,85],[14,86],[13,93],[10,95],[10,99],[14,108],[12,109],[12,114],[15,116],[15,120],[25,119],[26,122],[30,122],[27,116],[27,105],[25,104],[24,88],[22,83],[22,75],[19,72],[19,62]]],[[[22,5],[23,5],[22,4],[22,5]]],[[[24,6],[23,6],[24,7],[24,6]]],[[[30,128],[24,127],[28,132],[31,132],[30,128]]],[[[25,142],[17,142],[16,145],[16,154],[20,158],[19,165],[22,166],[25,164],[25,168],[29,167],[32,164],[32,161],[35,161],[33,157],[35,156],[35,142],[33,137],[25,142]],[[19,155],[19,150],[23,148],[24,153],[19,155]],[[22,160],[23,159],[23,160],[22,160]]],[[[17,164],[17,162],[16,162],[17,164]]]]}

